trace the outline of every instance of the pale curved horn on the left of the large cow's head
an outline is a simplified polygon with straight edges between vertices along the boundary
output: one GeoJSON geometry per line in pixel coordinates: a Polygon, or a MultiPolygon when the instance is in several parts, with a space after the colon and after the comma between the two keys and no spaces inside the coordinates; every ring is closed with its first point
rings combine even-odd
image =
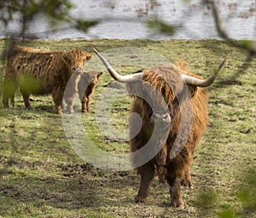
{"type": "Polygon", "coordinates": [[[99,53],[96,49],[93,49],[97,56],[102,60],[102,63],[108,69],[110,75],[120,83],[131,83],[137,82],[143,79],[143,72],[137,72],[130,75],[122,76],[118,72],[116,72],[113,67],[108,63],[108,61],[99,53]]]}

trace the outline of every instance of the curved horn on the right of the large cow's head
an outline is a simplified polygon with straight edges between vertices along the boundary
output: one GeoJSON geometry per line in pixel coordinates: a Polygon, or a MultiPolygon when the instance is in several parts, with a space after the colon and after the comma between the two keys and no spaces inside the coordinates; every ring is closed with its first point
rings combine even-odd
{"type": "Polygon", "coordinates": [[[218,69],[214,71],[214,73],[212,74],[211,77],[208,77],[207,79],[198,79],[195,77],[190,77],[188,75],[182,75],[183,80],[188,83],[189,85],[195,85],[198,87],[207,87],[209,85],[211,85],[215,78],[218,75],[218,72],[221,70],[221,68],[224,66],[224,63],[226,62],[226,60],[228,59],[229,54],[224,58],[224,60],[220,63],[220,65],[218,66],[218,69]]]}

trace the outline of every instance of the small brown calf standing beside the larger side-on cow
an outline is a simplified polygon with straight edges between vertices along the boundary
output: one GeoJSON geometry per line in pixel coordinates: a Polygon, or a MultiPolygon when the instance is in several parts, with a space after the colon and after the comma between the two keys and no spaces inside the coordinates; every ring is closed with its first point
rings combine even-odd
{"type": "Polygon", "coordinates": [[[79,92],[79,100],[81,101],[81,112],[89,112],[90,110],[90,96],[92,95],[99,77],[102,76],[102,72],[74,72],[70,77],[67,87],[63,96],[63,107],[66,107],[67,111],[73,112],[73,100],[75,95],[79,92]]]}

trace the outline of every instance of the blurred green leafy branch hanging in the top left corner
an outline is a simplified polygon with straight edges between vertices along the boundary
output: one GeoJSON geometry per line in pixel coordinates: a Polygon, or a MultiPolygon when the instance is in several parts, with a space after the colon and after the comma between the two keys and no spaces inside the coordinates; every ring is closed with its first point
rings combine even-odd
{"type": "Polygon", "coordinates": [[[97,20],[78,20],[70,16],[73,4],[69,0],[2,0],[0,2],[0,21],[3,22],[6,37],[21,37],[25,39],[29,22],[38,14],[44,14],[49,24],[58,25],[61,22],[69,23],[73,28],[87,32],[91,26],[97,25],[97,20]],[[14,21],[14,16],[19,16],[21,31],[11,34],[8,26],[14,21]]]}

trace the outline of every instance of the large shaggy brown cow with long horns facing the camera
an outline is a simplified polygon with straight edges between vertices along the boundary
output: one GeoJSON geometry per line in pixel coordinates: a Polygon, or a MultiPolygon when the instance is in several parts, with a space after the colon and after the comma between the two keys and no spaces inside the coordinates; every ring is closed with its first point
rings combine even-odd
{"type": "Polygon", "coordinates": [[[182,64],[160,66],[121,76],[114,71],[102,54],[96,50],[95,52],[115,80],[127,83],[128,92],[135,98],[131,112],[136,112],[142,118],[142,128],[139,131],[137,131],[137,120],[129,121],[130,135],[136,135],[135,132],[138,132],[130,141],[131,152],[137,152],[132,157],[132,164],[137,167],[137,172],[141,175],[136,202],[146,202],[150,182],[154,178],[154,171],[157,170],[160,178],[170,185],[171,205],[182,206],[180,185],[182,181],[191,184],[189,167],[195,146],[207,128],[205,87],[213,83],[227,57],[212,77],[202,80],[201,77],[186,71],[182,64]],[[156,134],[154,128],[159,129],[156,134]],[[158,137],[160,134],[163,137],[158,137]],[[155,138],[153,146],[148,148],[149,150],[143,150],[148,146],[153,135],[155,138]],[[158,147],[160,147],[158,152],[155,152],[158,147]],[[143,152],[139,152],[142,150],[143,152]],[[150,156],[154,152],[154,156],[150,156]],[[141,160],[145,162],[138,164],[141,160]]]}

